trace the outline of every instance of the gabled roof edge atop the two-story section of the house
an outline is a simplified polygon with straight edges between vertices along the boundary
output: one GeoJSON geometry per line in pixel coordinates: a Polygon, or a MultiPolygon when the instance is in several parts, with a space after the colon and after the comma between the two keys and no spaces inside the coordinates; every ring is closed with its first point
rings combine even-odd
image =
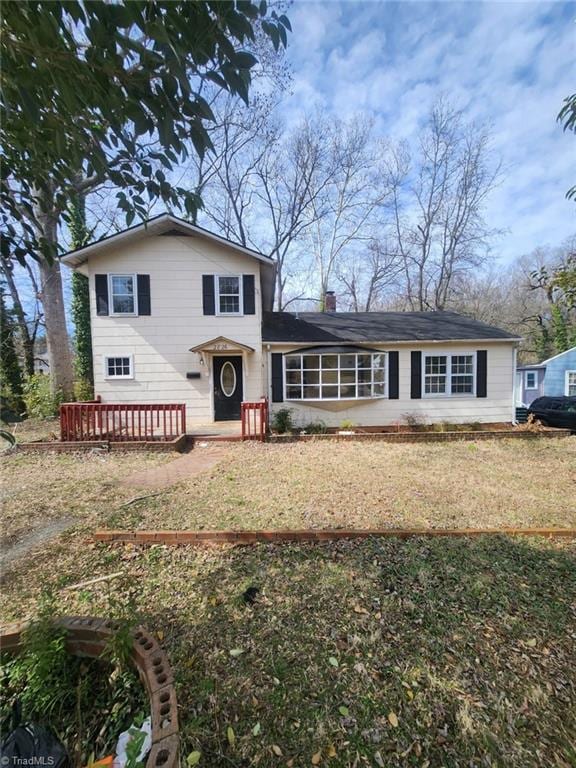
{"type": "Polygon", "coordinates": [[[199,227],[196,224],[191,224],[189,221],[180,219],[177,216],[173,216],[171,213],[161,213],[159,216],[154,216],[152,219],[148,219],[142,224],[135,224],[133,227],[128,227],[128,229],[124,229],[121,232],[116,232],[113,235],[103,237],[101,240],[96,240],[96,242],[85,245],[82,248],[76,248],[73,251],[69,251],[61,257],[61,261],[72,268],[79,267],[81,264],[84,264],[90,256],[94,256],[95,254],[120,243],[129,242],[149,235],[167,234],[201,237],[213,243],[225,245],[236,253],[241,253],[244,256],[251,256],[274,269],[274,262],[269,256],[264,256],[263,253],[253,251],[251,248],[246,248],[239,243],[234,243],[231,240],[227,240],[225,237],[220,237],[220,235],[215,235],[213,232],[210,232],[203,227],[199,227]]]}

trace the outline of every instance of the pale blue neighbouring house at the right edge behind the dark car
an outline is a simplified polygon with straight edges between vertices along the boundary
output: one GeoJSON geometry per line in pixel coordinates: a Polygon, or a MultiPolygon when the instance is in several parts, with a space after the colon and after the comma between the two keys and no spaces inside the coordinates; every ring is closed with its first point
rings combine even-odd
{"type": "Polygon", "coordinates": [[[537,397],[576,397],[576,347],[534,365],[516,369],[516,405],[527,408],[537,397]]]}

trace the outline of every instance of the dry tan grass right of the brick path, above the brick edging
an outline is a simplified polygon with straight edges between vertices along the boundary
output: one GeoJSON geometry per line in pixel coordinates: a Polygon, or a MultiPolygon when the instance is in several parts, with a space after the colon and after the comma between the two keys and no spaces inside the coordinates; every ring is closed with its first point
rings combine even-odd
{"type": "Polygon", "coordinates": [[[137,515],[140,528],[576,527],[576,440],[237,444],[137,515]]]}

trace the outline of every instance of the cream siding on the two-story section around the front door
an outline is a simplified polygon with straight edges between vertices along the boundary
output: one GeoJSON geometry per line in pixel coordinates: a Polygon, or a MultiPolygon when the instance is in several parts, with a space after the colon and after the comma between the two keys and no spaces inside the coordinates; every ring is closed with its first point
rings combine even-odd
{"type": "MultiPolygon", "coordinates": [[[[244,356],[244,399],[263,394],[260,264],[200,237],[150,236],[93,256],[90,278],[95,391],[104,402],[185,403],[190,426],[212,420],[211,365],[188,350],[225,336],[252,347],[244,356]],[[141,317],[99,317],[94,275],[150,275],[152,314],[141,317]],[[242,317],[205,316],[202,275],[255,276],[256,314],[242,317]],[[104,357],[132,355],[134,378],[108,380],[104,357]],[[187,379],[199,371],[200,379],[187,379]]],[[[226,354],[226,353],[223,353],[226,354]]],[[[231,354],[234,354],[231,352],[231,354]]]]}

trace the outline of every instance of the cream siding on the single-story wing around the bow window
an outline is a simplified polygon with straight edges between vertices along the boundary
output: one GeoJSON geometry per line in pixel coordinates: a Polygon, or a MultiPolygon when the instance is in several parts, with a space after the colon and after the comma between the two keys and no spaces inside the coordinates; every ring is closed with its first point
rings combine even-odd
{"type": "MultiPolygon", "coordinates": [[[[387,346],[371,344],[372,349],[399,351],[399,399],[349,400],[343,402],[301,403],[285,400],[272,403],[272,413],[279,408],[292,409],[295,424],[301,426],[312,421],[323,421],[328,427],[337,427],[343,420],[358,426],[388,426],[406,423],[406,414],[418,415],[422,423],[447,421],[454,424],[466,422],[510,422],[513,418],[514,400],[514,344],[470,343],[454,344],[421,343],[414,346],[387,346]],[[488,351],[487,397],[472,395],[410,397],[410,353],[421,350],[423,355],[472,354],[479,349],[488,351]]],[[[270,352],[297,351],[289,345],[270,345],[270,352]]],[[[424,359],[422,360],[424,365],[424,359]]],[[[270,367],[268,363],[267,368],[270,367]]],[[[269,374],[267,373],[268,378],[269,374]]],[[[269,392],[271,397],[270,383],[269,392]]]]}

